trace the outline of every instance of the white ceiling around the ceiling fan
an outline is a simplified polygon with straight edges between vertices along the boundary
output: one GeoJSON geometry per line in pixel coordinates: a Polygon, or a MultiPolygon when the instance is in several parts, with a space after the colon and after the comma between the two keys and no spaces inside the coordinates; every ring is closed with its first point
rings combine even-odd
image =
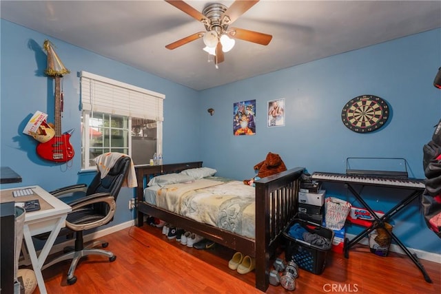
{"type": "MultiPolygon", "coordinates": [[[[213,3],[186,2],[200,12],[213,3]]],[[[237,40],[216,69],[207,62],[202,39],[165,48],[205,30],[165,1],[1,0],[0,5],[3,19],[194,90],[441,27],[441,1],[261,0],[234,27],[272,34],[273,39],[267,46],[237,40]]]]}

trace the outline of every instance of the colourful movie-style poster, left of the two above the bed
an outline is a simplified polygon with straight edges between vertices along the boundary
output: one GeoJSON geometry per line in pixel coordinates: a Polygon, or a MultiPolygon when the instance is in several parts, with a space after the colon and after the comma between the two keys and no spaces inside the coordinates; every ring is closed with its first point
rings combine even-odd
{"type": "Polygon", "coordinates": [[[233,103],[234,136],[256,134],[256,100],[233,103]]]}

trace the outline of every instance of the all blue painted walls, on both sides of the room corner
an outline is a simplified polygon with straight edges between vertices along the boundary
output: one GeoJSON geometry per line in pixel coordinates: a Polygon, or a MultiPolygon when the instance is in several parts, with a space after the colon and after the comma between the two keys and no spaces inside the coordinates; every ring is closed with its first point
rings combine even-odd
{"type": "MultiPolygon", "coordinates": [[[[410,176],[424,178],[422,146],[431,138],[441,114],[441,91],[432,82],[441,65],[441,30],[408,36],[285,70],[196,92],[136,70],[39,32],[1,20],[0,164],[15,169],[23,182],[47,190],[89,182],[79,174],[81,141],[79,78],[85,70],[165,94],[164,162],[203,160],[218,175],[252,178],[252,167],[268,151],[282,156],[287,167],[309,172],[344,172],[347,157],[402,157],[410,176]],[[35,154],[37,141],[22,134],[30,114],[41,110],[53,117],[52,80],[43,74],[45,39],[56,46],[71,74],[64,77],[63,130],[75,128],[76,155],[69,166],[52,165],[35,154]],[[342,125],[341,109],[349,99],[373,94],[391,106],[389,123],[378,132],[356,134],[342,125]],[[266,126],[267,101],[285,98],[285,127],[266,126]],[[255,136],[233,136],[233,103],[256,99],[255,136]],[[207,108],[215,109],[214,116],[207,108]]],[[[1,189],[17,185],[1,185],[1,189]]],[[[328,196],[353,202],[340,185],[326,185],[328,196]]],[[[387,211],[400,191],[363,190],[374,209],[387,211]]],[[[126,209],[131,189],[123,189],[112,224],[132,218],[126,209]]],[[[356,202],[353,203],[357,205],[356,202]]],[[[427,229],[418,202],[398,215],[394,230],[412,248],[441,253],[440,240],[427,229]],[[421,242],[424,240],[424,242],[421,242]]],[[[349,227],[349,233],[360,231],[349,227]]]]}

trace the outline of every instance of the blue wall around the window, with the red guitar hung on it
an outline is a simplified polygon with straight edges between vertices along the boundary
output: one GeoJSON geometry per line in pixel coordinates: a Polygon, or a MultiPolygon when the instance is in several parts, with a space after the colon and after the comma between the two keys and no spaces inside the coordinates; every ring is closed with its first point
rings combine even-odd
{"type": "MultiPolygon", "coordinates": [[[[193,129],[199,119],[188,115],[198,109],[198,92],[1,19],[0,164],[11,167],[23,178],[20,184],[1,185],[1,189],[37,184],[52,191],[92,180],[94,173],[79,173],[81,110],[78,73],[81,70],[165,94],[164,162],[201,160],[199,134],[193,129]],[[37,140],[22,134],[23,127],[37,110],[49,114],[48,121],[54,117],[53,80],[44,74],[48,60],[42,49],[45,39],[54,44],[55,52],[71,72],[63,77],[62,129],[63,132],[75,129],[70,143],[76,154],[67,165],[39,158],[35,152],[37,140]],[[183,122],[188,127],[180,127],[183,122]],[[180,128],[177,130],[176,126],[180,128]]],[[[132,197],[132,189],[121,190],[117,205],[123,209],[117,209],[114,221],[109,225],[133,218],[127,209],[127,202],[132,197]]]]}

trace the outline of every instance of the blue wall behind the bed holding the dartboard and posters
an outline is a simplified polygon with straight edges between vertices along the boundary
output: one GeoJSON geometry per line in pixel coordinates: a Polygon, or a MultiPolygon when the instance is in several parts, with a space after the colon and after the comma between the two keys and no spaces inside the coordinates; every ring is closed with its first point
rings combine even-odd
{"type": "MultiPolygon", "coordinates": [[[[253,166],[268,151],[280,154],[288,168],[306,167],[310,173],[345,173],[348,157],[393,157],[409,162],[409,176],[424,178],[422,146],[441,116],[441,91],[432,85],[440,66],[438,29],[205,90],[199,104],[205,113],[204,164],[220,176],[243,180],[254,176],[253,166]],[[380,96],[391,107],[391,118],[377,132],[357,134],[342,124],[342,107],[362,94],[380,96]],[[285,98],[286,125],[269,128],[267,102],[280,98],[285,98]],[[256,135],[233,136],[233,103],[253,99],[256,135]],[[213,116],[207,114],[209,107],[215,109],[213,116]]],[[[360,207],[341,186],[324,187],[328,196],[360,207]]],[[[388,211],[402,193],[365,188],[362,196],[373,209],[388,211]]],[[[418,201],[400,211],[394,224],[405,245],[441,253],[441,241],[427,229],[418,201]]],[[[347,231],[361,229],[353,225],[347,231]]]]}

